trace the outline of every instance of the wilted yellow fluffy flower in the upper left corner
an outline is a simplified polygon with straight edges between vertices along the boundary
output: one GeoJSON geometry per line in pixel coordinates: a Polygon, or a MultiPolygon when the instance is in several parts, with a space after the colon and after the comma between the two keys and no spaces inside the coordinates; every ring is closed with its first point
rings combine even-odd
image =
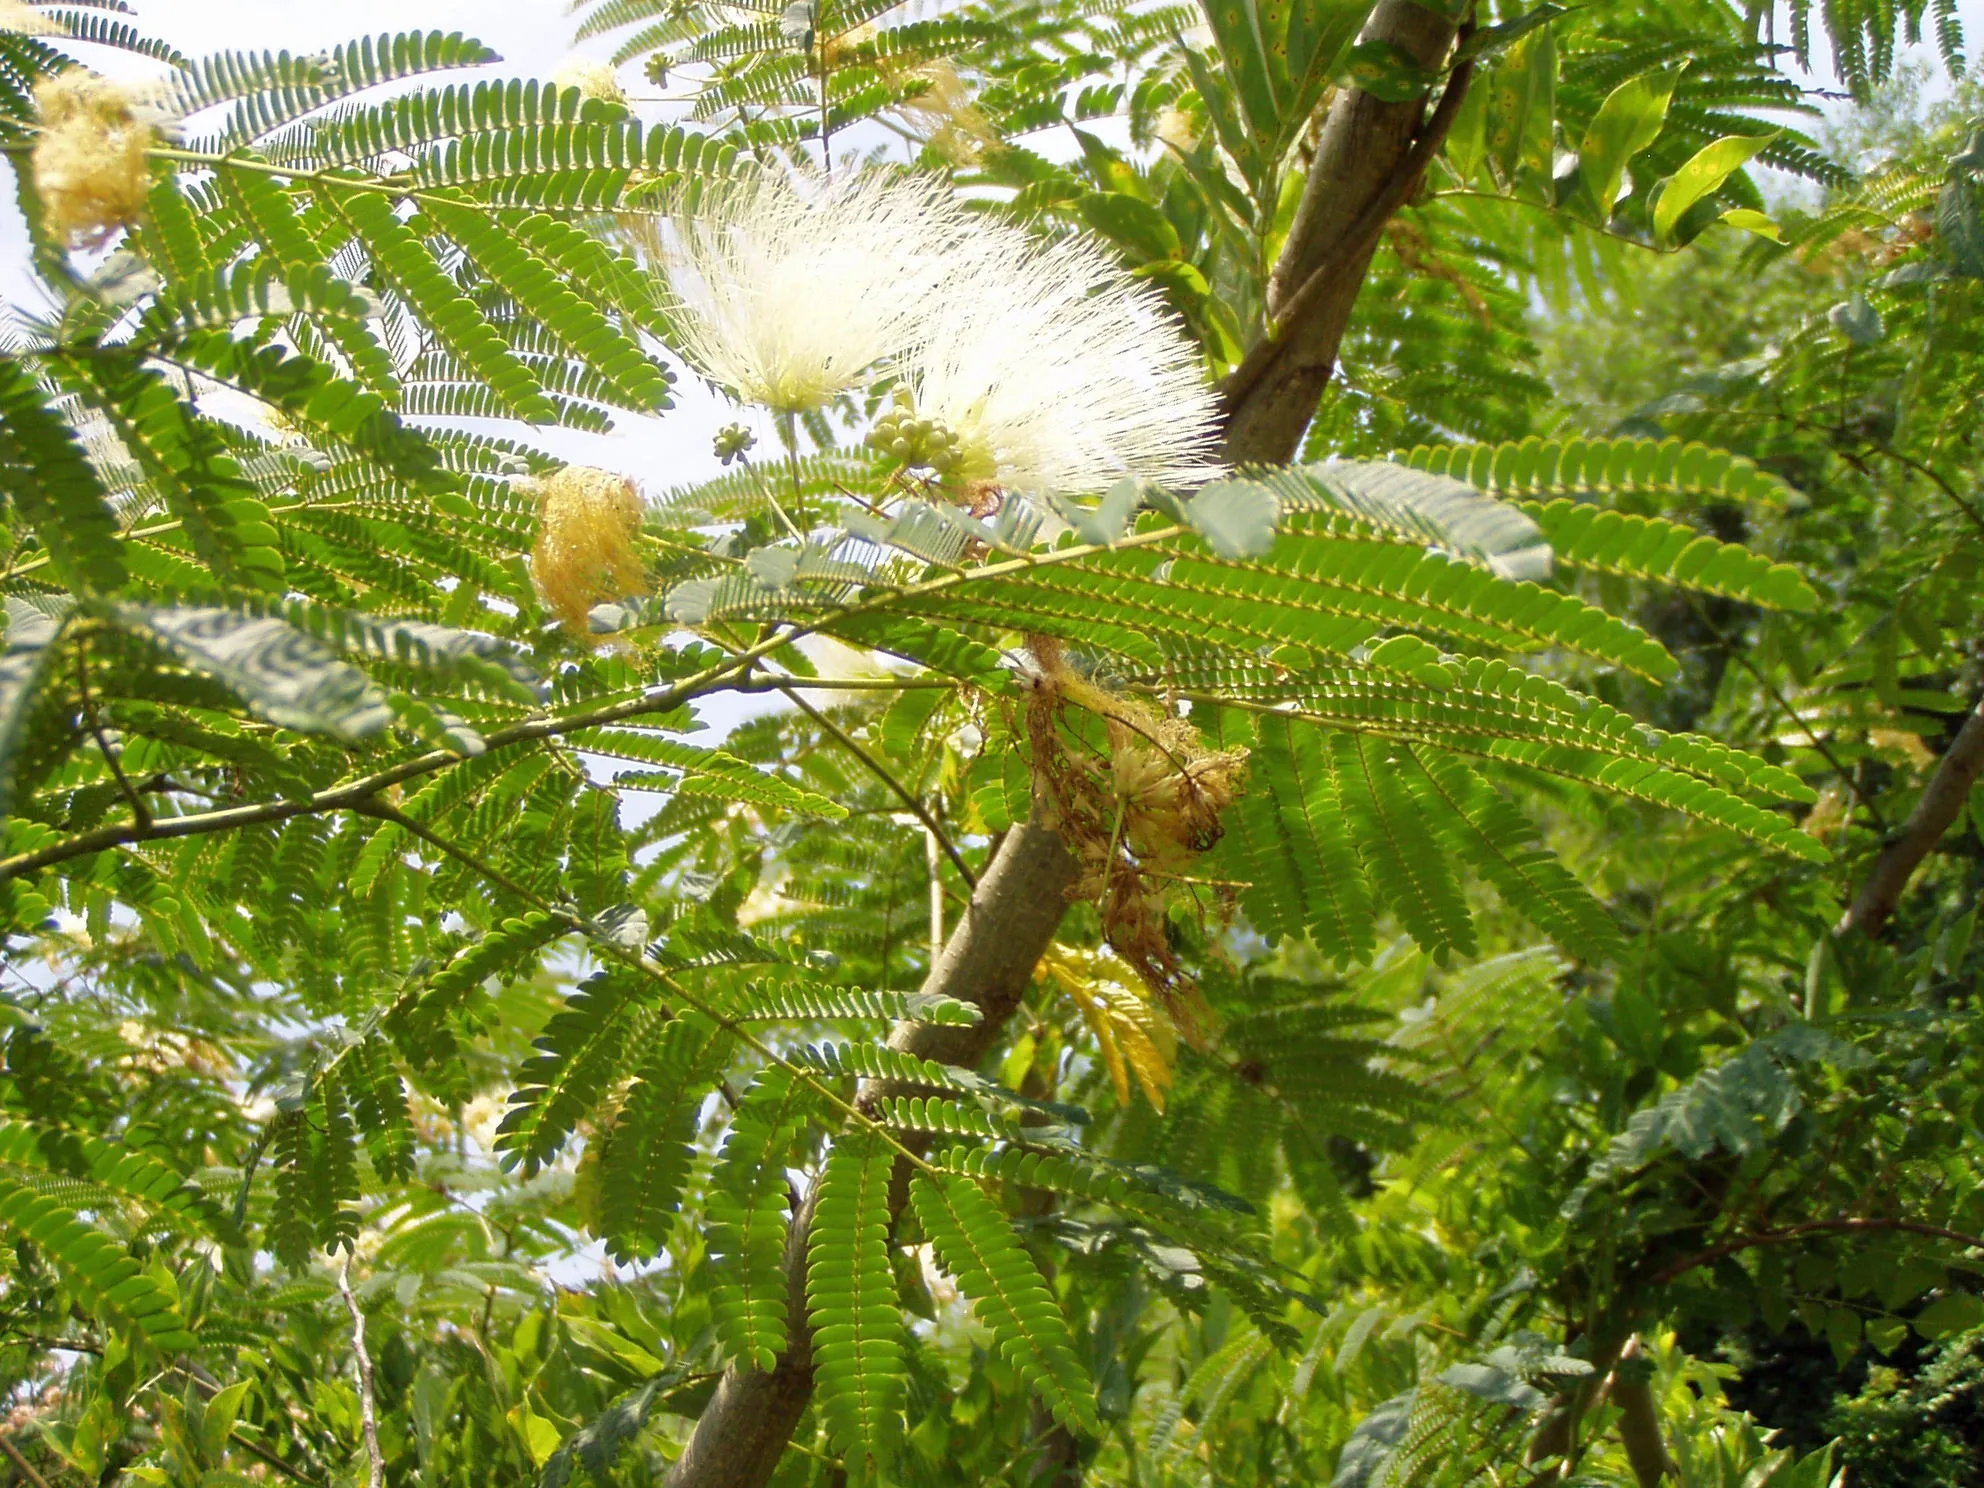
{"type": "Polygon", "coordinates": [[[151,125],[135,97],[109,77],[73,67],[34,85],[42,135],[34,145],[34,188],[48,230],[77,248],[97,248],[139,220],[151,190],[151,125]]]}

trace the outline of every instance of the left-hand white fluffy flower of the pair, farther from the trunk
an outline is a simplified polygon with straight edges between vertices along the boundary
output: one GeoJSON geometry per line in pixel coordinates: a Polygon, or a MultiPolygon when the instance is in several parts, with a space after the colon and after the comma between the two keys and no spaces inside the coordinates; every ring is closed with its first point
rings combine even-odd
{"type": "Polygon", "coordinates": [[[663,234],[682,351],[744,403],[817,409],[921,339],[968,228],[934,186],[875,171],[718,186],[663,234]]]}

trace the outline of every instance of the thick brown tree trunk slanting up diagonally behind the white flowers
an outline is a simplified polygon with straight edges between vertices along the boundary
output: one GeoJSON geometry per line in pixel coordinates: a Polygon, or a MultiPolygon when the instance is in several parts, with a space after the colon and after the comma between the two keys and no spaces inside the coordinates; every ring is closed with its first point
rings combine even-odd
{"type": "MultiPolygon", "coordinates": [[[[1452,50],[1454,24],[1415,0],[1379,0],[1365,36],[1405,48],[1430,69],[1452,50]]],[[[1438,113],[1426,125],[1425,101],[1419,99],[1385,103],[1357,89],[1335,97],[1270,290],[1270,306],[1286,323],[1278,323],[1272,345],[1256,347],[1262,355],[1254,357],[1246,383],[1230,379],[1224,389],[1228,460],[1270,464],[1294,456],[1329,383],[1337,343],[1385,218],[1419,183],[1464,87],[1462,71],[1448,83],[1438,113]]],[[[1008,833],[925,982],[927,992],[978,1004],[982,1022],[972,1028],[901,1024],[889,1036],[891,1048],[942,1063],[976,1065],[1004,1034],[1034,966],[1054,940],[1075,881],[1073,857],[1038,817],[1036,811],[1034,821],[1008,833]]],[[[895,1091],[865,1087],[861,1099],[887,1093],[895,1091]]],[[[897,1173],[897,1202],[907,1178],[903,1167],[897,1173]]],[[[786,1315],[792,1327],[786,1353],[772,1373],[740,1365],[724,1371],[688,1446],[669,1470],[669,1488],[762,1488],[778,1466],[813,1391],[806,1327],[809,1226],[807,1202],[794,1216],[786,1242],[786,1315]]]]}

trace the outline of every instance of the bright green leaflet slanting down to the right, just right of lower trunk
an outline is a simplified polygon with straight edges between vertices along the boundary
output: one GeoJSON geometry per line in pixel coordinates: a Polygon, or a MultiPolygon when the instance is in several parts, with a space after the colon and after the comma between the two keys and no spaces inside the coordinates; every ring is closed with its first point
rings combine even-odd
{"type": "Polygon", "coordinates": [[[1095,1387],[1059,1303],[1006,1214],[970,1178],[915,1175],[909,1202],[936,1258],[992,1329],[1000,1353],[1075,1430],[1097,1434],[1095,1387]]]}

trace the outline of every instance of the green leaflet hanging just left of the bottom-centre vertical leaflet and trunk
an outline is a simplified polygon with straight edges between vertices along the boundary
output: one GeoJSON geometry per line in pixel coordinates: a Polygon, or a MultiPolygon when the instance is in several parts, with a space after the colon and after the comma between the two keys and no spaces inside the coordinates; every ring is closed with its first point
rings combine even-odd
{"type": "Polygon", "coordinates": [[[710,1175],[710,1307],[724,1353],[770,1371],[786,1347],[786,1153],[811,1091],[770,1065],[744,1093],[710,1175]]]}

